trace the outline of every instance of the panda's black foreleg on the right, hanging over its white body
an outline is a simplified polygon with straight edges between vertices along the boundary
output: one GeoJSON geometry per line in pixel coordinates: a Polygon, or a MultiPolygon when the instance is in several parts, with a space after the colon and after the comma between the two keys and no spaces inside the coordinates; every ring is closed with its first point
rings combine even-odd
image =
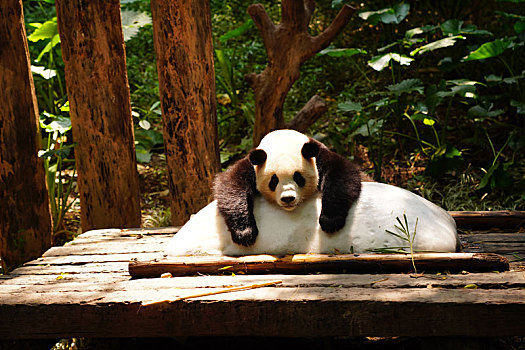
{"type": "MultiPolygon", "coordinates": [[[[334,233],[343,228],[348,211],[361,193],[361,171],[346,158],[330,151],[325,145],[310,139],[305,144],[317,144],[319,172],[318,190],[322,193],[319,224],[323,231],[334,233]]],[[[303,147],[303,150],[304,150],[303,147]]],[[[312,148],[312,146],[308,146],[312,148]]]]}

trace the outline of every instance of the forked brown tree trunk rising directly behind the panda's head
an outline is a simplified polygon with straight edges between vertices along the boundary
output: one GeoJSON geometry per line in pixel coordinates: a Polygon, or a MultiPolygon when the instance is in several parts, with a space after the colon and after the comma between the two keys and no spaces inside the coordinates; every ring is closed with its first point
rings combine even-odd
{"type": "MultiPolygon", "coordinates": [[[[299,78],[301,64],[326,48],[354,13],[350,6],[344,5],[332,24],[314,37],[308,33],[308,24],[314,9],[313,0],[282,0],[281,23],[276,25],[261,4],[248,7],[248,13],[261,33],[268,56],[268,65],[262,73],[246,75],[246,80],[255,91],[254,145],[268,132],[285,126],[284,101],[293,83],[299,78]]],[[[318,106],[320,98],[314,99],[305,108],[318,106]]],[[[315,115],[325,110],[323,107],[309,112],[303,108],[300,117],[303,120],[292,122],[291,126],[301,125],[304,129],[305,114],[309,115],[308,120],[313,123],[315,115]]]]}

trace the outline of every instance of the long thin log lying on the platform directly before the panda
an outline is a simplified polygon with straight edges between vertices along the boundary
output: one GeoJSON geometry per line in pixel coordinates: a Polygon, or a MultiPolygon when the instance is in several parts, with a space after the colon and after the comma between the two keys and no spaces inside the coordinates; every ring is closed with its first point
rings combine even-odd
{"type": "MultiPolygon", "coordinates": [[[[509,269],[506,258],[481,253],[414,254],[420,270],[504,271],[509,269]]],[[[252,255],[239,258],[191,256],[169,257],[159,261],[130,261],[133,277],[158,277],[169,272],[173,276],[196,273],[370,273],[408,272],[413,270],[410,254],[296,254],[283,258],[271,255],[252,255]]]]}

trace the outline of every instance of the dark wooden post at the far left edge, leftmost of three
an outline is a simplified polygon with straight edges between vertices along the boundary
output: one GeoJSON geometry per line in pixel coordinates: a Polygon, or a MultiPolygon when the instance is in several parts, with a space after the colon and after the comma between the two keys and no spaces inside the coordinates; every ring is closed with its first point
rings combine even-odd
{"type": "Polygon", "coordinates": [[[51,246],[38,107],[21,0],[0,6],[0,257],[4,267],[51,246]]]}

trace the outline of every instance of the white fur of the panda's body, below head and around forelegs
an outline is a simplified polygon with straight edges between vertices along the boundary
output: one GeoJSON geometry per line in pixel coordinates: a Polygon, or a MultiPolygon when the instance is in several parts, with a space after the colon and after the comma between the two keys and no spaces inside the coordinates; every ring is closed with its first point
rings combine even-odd
{"type": "Polygon", "coordinates": [[[256,197],[254,215],[259,236],[253,246],[231,240],[224,219],[213,201],[195,214],[173,237],[167,252],[185,255],[251,255],[291,253],[361,253],[368,249],[406,246],[386,232],[400,234],[396,218],[408,219],[414,248],[422,251],[454,252],[458,235],[454,219],[443,209],[409,191],[374,182],[363,182],[359,200],[352,206],[343,229],[327,234],[319,227],[320,194],[294,211],[285,211],[261,196],[256,197]]]}

